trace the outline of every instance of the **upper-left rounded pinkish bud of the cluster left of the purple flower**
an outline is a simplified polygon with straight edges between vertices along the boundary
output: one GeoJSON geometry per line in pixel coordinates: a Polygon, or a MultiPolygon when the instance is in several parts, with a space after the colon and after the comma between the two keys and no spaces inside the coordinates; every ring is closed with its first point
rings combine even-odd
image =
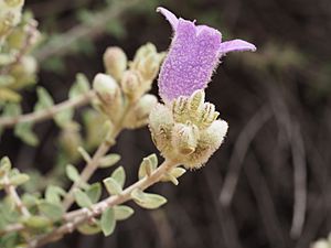
{"type": "Polygon", "coordinates": [[[111,75],[116,80],[120,80],[127,68],[127,55],[117,46],[110,46],[104,54],[104,64],[107,74],[111,75]]]}

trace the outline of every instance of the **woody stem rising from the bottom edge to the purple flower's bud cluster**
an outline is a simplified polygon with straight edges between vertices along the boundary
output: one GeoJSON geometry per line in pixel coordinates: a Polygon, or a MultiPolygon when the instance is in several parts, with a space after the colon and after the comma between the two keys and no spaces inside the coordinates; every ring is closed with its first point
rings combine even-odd
{"type": "MultiPolygon", "coordinates": [[[[88,208],[82,208],[79,211],[75,211],[75,217],[70,222],[63,224],[58,228],[54,229],[52,233],[42,236],[35,240],[32,240],[29,245],[29,248],[41,247],[45,244],[49,244],[56,239],[57,237],[62,237],[65,234],[74,231],[81,224],[85,223],[92,217],[96,217],[100,215],[105,209],[110,206],[115,206],[118,204],[122,204],[129,200],[131,200],[131,193],[136,188],[146,190],[147,187],[153,185],[159,182],[161,177],[167,173],[170,169],[177,166],[178,163],[173,161],[166,160],[156,171],[152,172],[150,176],[146,176],[135,184],[130,185],[126,190],[122,191],[121,194],[109,196],[108,198],[94,204],[88,208]]],[[[65,216],[72,215],[67,213],[65,216]]],[[[73,215],[72,215],[73,216],[73,215]]]]}

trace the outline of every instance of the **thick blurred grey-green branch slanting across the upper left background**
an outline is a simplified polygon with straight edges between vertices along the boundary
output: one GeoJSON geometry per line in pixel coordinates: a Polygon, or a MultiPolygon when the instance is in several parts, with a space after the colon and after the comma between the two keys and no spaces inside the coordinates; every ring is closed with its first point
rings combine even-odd
{"type": "Polygon", "coordinates": [[[36,58],[42,62],[52,55],[64,55],[71,50],[72,45],[81,39],[88,37],[94,40],[98,37],[105,32],[107,24],[111,20],[118,19],[139,1],[140,0],[115,1],[114,4],[109,6],[107,9],[94,14],[93,20],[88,20],[88,23],[82,23],[74,26],[67,32],[58,35],[56,39],[49,41],[49,43],[36,51],[36,58]]]}

